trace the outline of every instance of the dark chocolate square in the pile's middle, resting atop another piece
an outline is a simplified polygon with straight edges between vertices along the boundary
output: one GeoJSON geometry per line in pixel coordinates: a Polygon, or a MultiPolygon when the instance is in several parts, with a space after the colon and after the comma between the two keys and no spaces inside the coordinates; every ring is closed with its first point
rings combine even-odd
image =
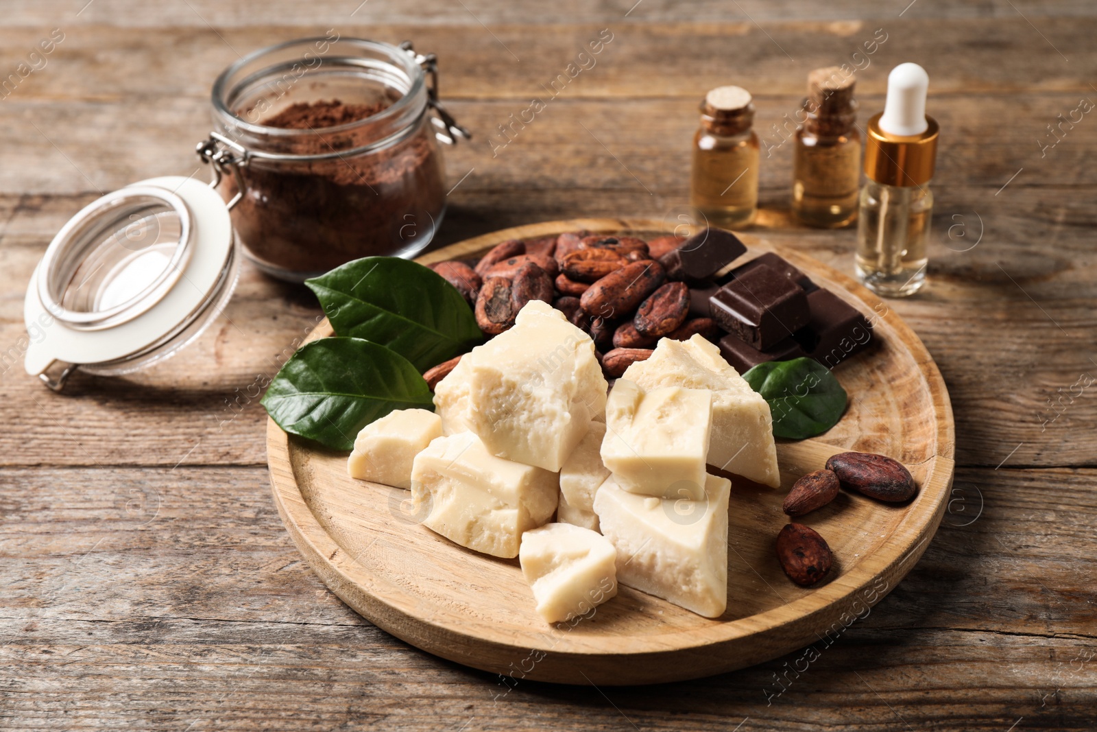
{"type": "Polygon", "coordinates": [[[807,295],[784,273],[760,264],[736,275],[709,299],[724,330],[766,350],[807,325],[807,295]]]}

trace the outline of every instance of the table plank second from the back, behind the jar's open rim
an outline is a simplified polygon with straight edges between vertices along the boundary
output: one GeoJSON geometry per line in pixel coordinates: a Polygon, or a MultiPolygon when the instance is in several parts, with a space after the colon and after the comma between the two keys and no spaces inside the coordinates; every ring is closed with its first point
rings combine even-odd
{"type": "MultiPolygon", "coordinates": [[[[1040,32],[1071,58],[1070,63],[1063,63],[1025,18],[1008,5],[1004,7],[1013,16],[994,24],[976,19],[942,23],[931,16],[911,14],[903,19],[889,14],[833,22],[812,20],[796,12],[795,20],[756,25],[728,5],[732,18],[725,14],[722,19],[717,11],[698,14],[694,20],[679,15],[665,23],[622,22],[620,14],[599,16],[584,12],[553,23],[551,32],[545,32],[527,24],[484,27],[453,3],[445,3],[445,8],[455,8],[463,18],[436,15],[431,19],[434,22],[427,24],[407,19],[370,22],[369,11],[374,2],[371,0],[353,18],[344,15],[326,24],[308,16],[290,25],[249,22],[210,27],[185,4],[180,4],[178,12],[189,14],[194,23],[162,23],[139,31],[120,31],[110,24],[49,22],[38,27],[16,27],[5,22],[4,29],[0,29],[0,68],[14,68],[24,61],[34,45],[58,26],[65,34],[64,41],[46,57],[45,66],[21,82],[8,101],[118,102],[125,98],[148,103],[156,98],[181,97],[205,114],[213,79],[238,54],[290,38],[329,35],[329,31],[394,44],[411,38],[417,48],[438,54],[443,93],[446,99],[459,100],[525,100],[531,93],[543,94],[540,85],[548,86],[557,74],[564,72],[567,64],[603,29],[613,34],[612,41],[595,57],[593,68],[585,69],[574,83],[567,85],[566,97],[687,98],[695,109],[708,89],[734,77],[747,83],[758,97],[789,97],[799,101],[806,91],[806,70],[792,72],[792,64],[782,48],[795,58],[796,71],[850,65],[860,70],[859,93],[874,97],[884,92],[891,67],[914,53],[921,57],[934,79],[935,98],[1000,94],[1004,90],[1088,94],[1093,90],[1087,86],[1086,69],[1097,60],[1097,50],[1088,43],[1092,19],[1053,18],[1041,24],[1040,32]],[[120,32],[125,34],[125,45],[112,43],[120,32]],[[477,43],[470,44],[468,38],[477,43]],[[730,41],[735,44],[731,56],[730,41]],[[864,43],[872,41],[877,42],[869,46],[873,53],[864,55],[864,43]],[[952,54],[958,46],[965,52],[962,56],[952,54]],[[165,53],[166,48],[170,52],[165,53]],[[1004,55],[1003,48],[1031,53],[1004,55]],[[853,57],[857,52],[861,55],[853,57]],[[743,78],[747,75],[734,68],[736,59],[750,59],[749,81],[743,78]],[[134,74],[138,68],[142,72],[134,74]]],[[[651,2],[643,0],[637,10],[651,2]]],[[[918,0],[913,10],[925,2],[918,0]]],[[[92,4],[81,18],[95,7],[92,4]]],[[[239,3],[233,5],[239,7],[239,3]]],[[[168,5],[156,12],[162,20],[162,13],[171,10],[176,8],[168,5]]],[[[755,12],[750,15],[761,22],[755,12]]],[[[140,12],[134,16],[139,18],[140,12]]],[[[267,20],[270,15],[263,12],[260,18],[267,20]]],[[[590,64],[585,61],[587,66],[590,64]]],[[[139,123],[140,117],[131,122],[139,123]]]]}

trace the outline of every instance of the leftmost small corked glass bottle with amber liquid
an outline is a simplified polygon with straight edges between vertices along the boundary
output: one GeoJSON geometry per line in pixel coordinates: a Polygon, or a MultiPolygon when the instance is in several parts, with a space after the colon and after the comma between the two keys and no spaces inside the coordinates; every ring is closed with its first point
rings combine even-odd
{"type": "Polygon", "coordinates": [[[710,226],[743,228],[758,211],[758,135],[750,128],[750,99],[742,87],[717,87],[701,103],[690,205],[710,226]]]}

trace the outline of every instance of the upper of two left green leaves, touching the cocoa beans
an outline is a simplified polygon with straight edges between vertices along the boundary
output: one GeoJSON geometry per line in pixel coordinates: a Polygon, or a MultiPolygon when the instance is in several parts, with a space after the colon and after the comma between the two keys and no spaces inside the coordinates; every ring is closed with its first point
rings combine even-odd
{"type": "Polygon", "coordinates": [[[387,346],[419,372],[483,340],[456,288],[398,257],[366,257],[307,280],[337,336],[387,346]]]}

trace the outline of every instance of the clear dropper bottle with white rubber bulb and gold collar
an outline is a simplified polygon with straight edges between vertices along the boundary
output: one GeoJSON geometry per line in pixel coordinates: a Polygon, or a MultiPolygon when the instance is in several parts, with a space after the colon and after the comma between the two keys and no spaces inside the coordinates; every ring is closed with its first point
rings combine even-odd
{"type": "Polygon", "coordinates": [[[937,122],[926,115],[928,88],[924,68],[900,64],[887,77],[884,111],[868,124],[857,274],[881,295],[905,297],[926,281],[938,134],[937,122]]]}

